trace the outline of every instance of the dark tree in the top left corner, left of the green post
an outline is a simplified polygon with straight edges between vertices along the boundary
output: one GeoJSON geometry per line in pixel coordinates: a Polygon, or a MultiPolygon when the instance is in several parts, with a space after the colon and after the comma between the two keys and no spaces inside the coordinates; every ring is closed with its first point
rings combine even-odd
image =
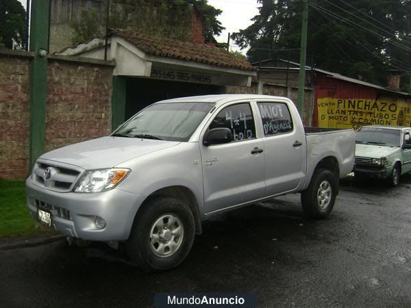
{"type": "Polygon", "coordinates": [[[0,46],[12,49],[13,42],[25,47],[26,12],[17,0],[0,0],[0,46]]]}

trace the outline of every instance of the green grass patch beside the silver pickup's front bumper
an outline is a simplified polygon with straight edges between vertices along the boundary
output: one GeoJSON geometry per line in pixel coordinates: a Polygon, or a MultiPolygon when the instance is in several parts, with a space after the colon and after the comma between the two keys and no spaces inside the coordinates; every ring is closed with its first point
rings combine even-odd
{"type": "Polygon", "coordinates": [[[0,179],[0,238],[30,238],[35,235],[55,235],[41,230],[29,215],[23,180],[0,179]]]}

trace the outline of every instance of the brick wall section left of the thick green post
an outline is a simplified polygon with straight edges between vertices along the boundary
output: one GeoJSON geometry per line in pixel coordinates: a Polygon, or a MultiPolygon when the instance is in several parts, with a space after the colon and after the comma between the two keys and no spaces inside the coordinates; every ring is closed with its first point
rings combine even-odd
{"type": "Polygon", "coordinates": [[[0,177],[23,178],[29,159],[29,57],[0,55],[0,177]]]}

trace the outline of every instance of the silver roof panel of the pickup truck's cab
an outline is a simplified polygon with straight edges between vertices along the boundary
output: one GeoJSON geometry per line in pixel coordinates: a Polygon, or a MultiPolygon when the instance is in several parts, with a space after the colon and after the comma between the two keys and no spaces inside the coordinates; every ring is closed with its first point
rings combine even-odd
{"type": "MultiPolygon", "coordinates": [[[[259,94],[214,94],[214,95],[202,95],[198,97],[179,97],[178,99],[166,99],[164,101],[158,101],[157,103],[227,103],[227,101],[236,101],[240,99],[287,99],[286,97],[272,97],[269,95],[259,94]]],[[[287,99],[288,100],[288,99],[287,99]]]]}

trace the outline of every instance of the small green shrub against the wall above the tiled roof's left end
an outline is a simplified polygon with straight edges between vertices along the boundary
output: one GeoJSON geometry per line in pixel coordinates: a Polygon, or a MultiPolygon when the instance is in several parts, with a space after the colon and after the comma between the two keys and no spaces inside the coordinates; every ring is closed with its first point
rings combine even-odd
{"type": "Polygon", "coordinates": [[[74,30],[74,35],[71,38],[73,44],[87,42],[93,38],[102,36],[99,27],[99,19],[96,10],[82,10],[82,18],[78,22],[70,23],[74,30]]]}

